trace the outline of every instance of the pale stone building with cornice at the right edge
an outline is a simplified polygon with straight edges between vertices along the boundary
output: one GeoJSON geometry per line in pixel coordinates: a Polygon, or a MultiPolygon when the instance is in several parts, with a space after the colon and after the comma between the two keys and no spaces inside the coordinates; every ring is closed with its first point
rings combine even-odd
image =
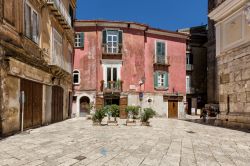
{"type": "Polygon", "coordinates": [[[215,23],[219,81],[219,118],[223,124],[250,126],[250,4],[216,1],[209,18],[215,23]]]}

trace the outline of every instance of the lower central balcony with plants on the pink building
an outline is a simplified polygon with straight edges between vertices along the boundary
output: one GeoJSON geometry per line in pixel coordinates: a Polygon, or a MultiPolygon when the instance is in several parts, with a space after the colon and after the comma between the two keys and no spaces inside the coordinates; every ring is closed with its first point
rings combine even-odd
{"type": "Polygon", "coordinates": [[[104,93],[120,93],[122,92],[123,81],[101,81],[101,91],[104,93]]]}

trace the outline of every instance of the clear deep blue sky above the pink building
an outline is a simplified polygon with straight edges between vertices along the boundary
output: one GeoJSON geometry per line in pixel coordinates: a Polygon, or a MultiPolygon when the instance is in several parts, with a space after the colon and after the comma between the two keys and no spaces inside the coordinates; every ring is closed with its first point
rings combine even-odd
{"type": "Polygon", "coordinates": [[[133,21],[175,31],[207,24],[207,0],[77,0],[77,19],[133,21]]]}

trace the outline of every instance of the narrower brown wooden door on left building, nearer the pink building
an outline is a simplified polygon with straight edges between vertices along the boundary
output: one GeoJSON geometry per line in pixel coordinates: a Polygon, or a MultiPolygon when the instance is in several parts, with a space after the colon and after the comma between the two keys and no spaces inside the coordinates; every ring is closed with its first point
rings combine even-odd
{"type": "Polygon", "coordinates": [[[63,120],[63,88],[59,86],[52,87],[51,103],[51,122],[60,122],[63,120]]]}

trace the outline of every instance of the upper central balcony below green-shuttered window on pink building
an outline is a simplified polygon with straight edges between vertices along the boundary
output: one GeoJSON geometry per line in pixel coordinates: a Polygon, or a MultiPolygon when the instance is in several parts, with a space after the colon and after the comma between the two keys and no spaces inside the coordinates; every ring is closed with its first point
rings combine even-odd
{"type": "Polygon", "coordinates": [[[102,59],[122,59],[122,44],[118,44],[117,47],[102,44],[102,59]]]}

